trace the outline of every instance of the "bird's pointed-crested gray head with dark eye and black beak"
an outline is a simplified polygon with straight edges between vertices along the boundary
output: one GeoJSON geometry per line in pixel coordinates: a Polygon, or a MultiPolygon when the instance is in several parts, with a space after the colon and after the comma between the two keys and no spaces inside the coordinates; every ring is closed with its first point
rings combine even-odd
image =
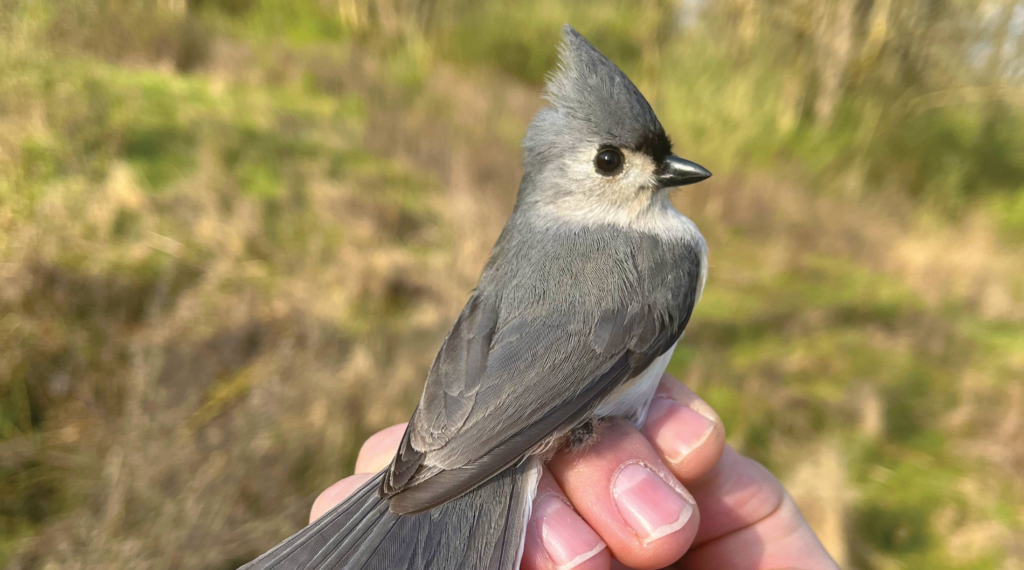
{"type": "Polygon", "coordinates": [[[569,26],[549,104],[523,139],[520,204],[599,221],[642,215],[666,190],[711,176],[672,154],[662,123],[626,74],[569,26]]]}

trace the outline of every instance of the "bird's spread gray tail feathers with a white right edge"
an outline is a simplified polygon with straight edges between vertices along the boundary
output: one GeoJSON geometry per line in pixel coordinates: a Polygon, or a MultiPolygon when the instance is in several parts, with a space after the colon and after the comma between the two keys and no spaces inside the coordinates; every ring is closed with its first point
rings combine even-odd
{"type": "Polygon", "coordinates": [[[530,459],[415,515],[396,515],[378,496],[381,473],[240,570],[513,570],[540,471],[530,459]]]}

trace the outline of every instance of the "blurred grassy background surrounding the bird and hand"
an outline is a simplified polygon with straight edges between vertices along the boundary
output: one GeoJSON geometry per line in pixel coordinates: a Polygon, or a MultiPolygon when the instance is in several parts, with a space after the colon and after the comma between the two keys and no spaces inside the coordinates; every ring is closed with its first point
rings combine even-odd
{"type": "Polygon", "coordinates": [[[844,567],[1024,568],[1024,0],[0,0],[0,566],[303,526],[418,401],[563,23],[716,174],[670,371],[844,567]]]}

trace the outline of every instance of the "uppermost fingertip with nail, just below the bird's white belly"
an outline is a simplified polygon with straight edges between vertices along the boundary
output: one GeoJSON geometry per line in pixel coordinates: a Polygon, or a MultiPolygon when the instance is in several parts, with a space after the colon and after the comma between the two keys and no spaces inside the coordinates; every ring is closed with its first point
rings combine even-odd
{"type": "Polygon", "coordinates": [[[707,475],[725,448],[725,427],[715,410],[669,375],[662,377],[643,433],[684,485],[707,475]]]}

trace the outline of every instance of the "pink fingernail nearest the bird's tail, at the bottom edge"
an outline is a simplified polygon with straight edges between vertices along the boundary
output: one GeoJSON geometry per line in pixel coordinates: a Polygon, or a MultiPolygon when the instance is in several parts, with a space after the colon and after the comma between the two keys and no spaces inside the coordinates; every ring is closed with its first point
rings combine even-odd
{"type": "Polygon", "coordinates": [[[534,520],[557,570],[575,568],[605,549],[590,525],[557,496],[541,499],[534,508],[534,520]]]}

